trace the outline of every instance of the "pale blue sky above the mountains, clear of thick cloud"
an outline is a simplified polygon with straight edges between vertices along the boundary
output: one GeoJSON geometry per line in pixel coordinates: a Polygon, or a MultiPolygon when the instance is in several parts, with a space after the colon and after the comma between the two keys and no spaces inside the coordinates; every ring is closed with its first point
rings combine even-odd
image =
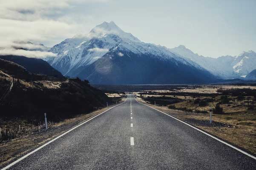
{"type": "MultiPolygon", "coordinates": [[[[25,1],[31,4],[30,0],[25,1]]],[[[37,25],[42,24],[38,20],[49,22],[47,31],[35,26],[40,30],[37,34],[43,32],[42,39],[36,36],[29,39],[35,38],[52,46],[77,33],[88,33],[101,22],[112,20],[144,42],[169,48],[185,45],[203,56],[235,56],[242,51],[256,51],[256,0],[64,1],[67,7],[65,3],[60,5],[60,1],[56,1],[49,4],[53,7],[47,8],[47,12],[35,12],[35,17],[30,8],[25,7],[27,4],[23,0],[25,11],[29,11],[24,15],[25,21],[37,21],[37,25]],[[55,26],[51,26],[50,22],[55,26]]],[[[38,5],[36,7],[39,8],[38,5]]],[[[24,12],[18,5],[15,8],[24,12]]],[[[33,6],[31,9],[34,9],[33,6]]],[[[1,17],[1,14],[0,18],[13,20],[1,17]]],[[[19,20],[23,22],[22,18],[19,20]]]]}

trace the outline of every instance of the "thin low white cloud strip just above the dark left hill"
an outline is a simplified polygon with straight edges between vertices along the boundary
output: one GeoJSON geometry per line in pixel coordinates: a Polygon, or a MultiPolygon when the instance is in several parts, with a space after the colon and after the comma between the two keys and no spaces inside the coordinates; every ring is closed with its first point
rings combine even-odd
{"type": "Polygon", "coordinates": [[[0,49],[0,55],[16,55],[16,56],[26,56],[32,58],[45,58],[49,56],[56,56],[56,54],[47,51],[29,51],[29,50],[16,50],[14,48],[4,48],[0,49]]]}

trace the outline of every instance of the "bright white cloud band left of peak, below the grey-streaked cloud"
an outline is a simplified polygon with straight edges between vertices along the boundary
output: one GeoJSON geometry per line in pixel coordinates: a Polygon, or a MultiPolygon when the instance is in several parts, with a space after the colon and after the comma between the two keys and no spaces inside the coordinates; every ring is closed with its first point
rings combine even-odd
{"type": "Polygon", "coordinates": [[[55,20],[20,21],[0,19],[0,46],[13,41],[45,41],[72,36],[74,27],[55,20]]]}

